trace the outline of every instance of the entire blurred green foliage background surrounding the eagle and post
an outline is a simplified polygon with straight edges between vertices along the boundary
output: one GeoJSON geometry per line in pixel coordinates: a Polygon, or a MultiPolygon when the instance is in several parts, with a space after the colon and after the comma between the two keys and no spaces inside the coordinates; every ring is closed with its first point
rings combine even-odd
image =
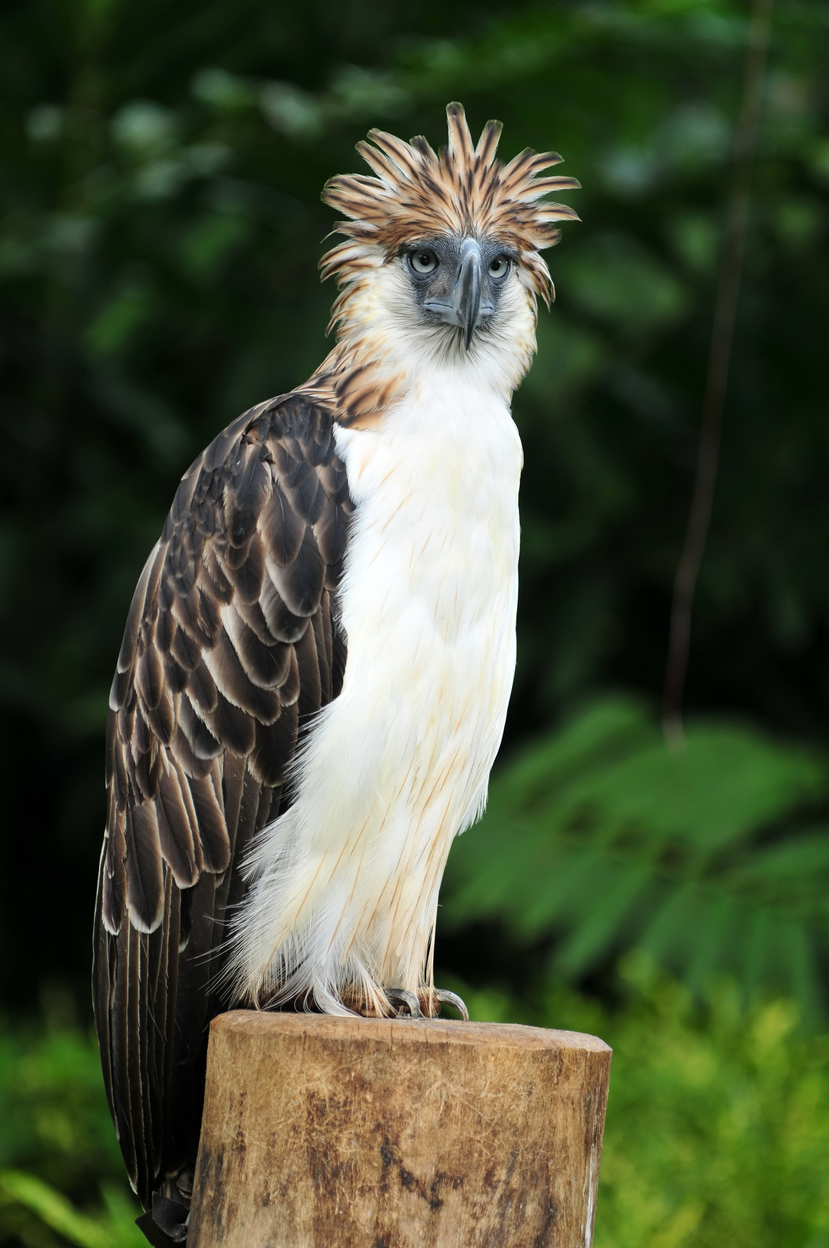
{"type": "Polygon", "coordinates": [[[503,120],[507,156],[561,150],[584,190],[514,403],[518,671],[438,965],[479,1016],[614,1045],[597,1243],[829,1243],[819,0],[775,6],[684,754],[655,718],[747,22],[737,0],[2,6],[11,1243],[135,1243],[86,985],[106,693],[139,570],[192,457],[326,349],[326,177],[360,167],[371,125],[439,142],[449,99],[473,130],[503,120]],[[55,985],[80,1021],[54,1017],[55,985]]]}

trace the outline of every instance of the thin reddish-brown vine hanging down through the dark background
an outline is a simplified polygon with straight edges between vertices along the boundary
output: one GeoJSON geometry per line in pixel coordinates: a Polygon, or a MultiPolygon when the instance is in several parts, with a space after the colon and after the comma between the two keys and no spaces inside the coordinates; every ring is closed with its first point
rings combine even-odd
{"type": "Polygon", "coordinates": [[[717,467],[719,462],[723,406],[728,387],[728,368],[734,338],[734,319],[739,295],[745,230],[752,188],[752,165],[757,147],[763,101],[763,79],[772,26],[774,0],[754,0],[749,29],[743,97],[734,136],[734,165],[728,203],[728,220],[723,256],[719,268],[719,287],[714,308],[708,376],[699,429],[697,477],[688,517],[685,544],[679,557],[670,608],[670,638],[665,663],[665,683],[662,703],[662,726],[668,745],[682,745],[682,704],[688,673],[690,645],[690,619],[694,588],[702,563],[708,527],[710,523],[717,467]]]}

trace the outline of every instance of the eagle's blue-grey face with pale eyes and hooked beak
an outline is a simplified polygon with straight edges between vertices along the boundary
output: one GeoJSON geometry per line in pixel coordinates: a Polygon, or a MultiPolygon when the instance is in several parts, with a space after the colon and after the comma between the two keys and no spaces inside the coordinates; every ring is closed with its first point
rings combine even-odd
{"type": "Polygon", "coordinates": [[[403,250],[406,272],[427,324],[457,326],[468,351],[472,334],[497,316],[518,256],[496,238],[449,235],[403,250]]]}

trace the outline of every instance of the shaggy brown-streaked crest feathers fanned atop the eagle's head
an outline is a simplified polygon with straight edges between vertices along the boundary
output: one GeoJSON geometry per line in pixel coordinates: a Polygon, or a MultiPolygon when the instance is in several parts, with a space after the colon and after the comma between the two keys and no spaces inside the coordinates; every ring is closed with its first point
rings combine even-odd
{"type": "Polygon", "coordinates": [[[326,182],[323,201],[351,220],[335,227],[348,241],[322,257],[323,278],[336,276],[345,286],[377,263],[377,248],[396,255],[405,243],[442,233],[494,237],[518,253],[533,290],[549,306],[552,282],[538,252],[559,241],[553,222],[578,221],[578,213],[543,197],[579,183],[541,176],[561,163],[557,152],[527,147],[508,165],[496,160],[499,121],[488,121],[473,147],[463,106],[449,104],[446,114],[449,142],[439,152],[422,135],[407,144],[370,130],[372,142],[357,144],[357,151],[377,176],[340,175],[326,182]]]}

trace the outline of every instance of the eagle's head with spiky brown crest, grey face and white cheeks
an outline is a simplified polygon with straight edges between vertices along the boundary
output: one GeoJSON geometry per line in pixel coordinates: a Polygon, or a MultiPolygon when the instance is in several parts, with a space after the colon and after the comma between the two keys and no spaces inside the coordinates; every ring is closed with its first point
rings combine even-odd
{"type": "Polygon", "coordinates": [[[332,177],[322,192],[347,217],[335,227],[346,241],[321,268],[341,291],[328,327],[337,329],[340,378],[366,377],[363,412],[426,358],[489,364],[502,388],[514,389],[536,349],[537,298],[549,307],[554,296],[539,252],[558,242],[554,222],[578,220],[546,198],[579,185],[544,176],[561,156],[526,149],[504,165],[496,157],[501,122],[487,122],[473,146],[462,105],[449,104],[447,119],[449,141],[438,152],[422,135],[407,144],[371,130],[357,151],[376,176],[332,177]]]}

